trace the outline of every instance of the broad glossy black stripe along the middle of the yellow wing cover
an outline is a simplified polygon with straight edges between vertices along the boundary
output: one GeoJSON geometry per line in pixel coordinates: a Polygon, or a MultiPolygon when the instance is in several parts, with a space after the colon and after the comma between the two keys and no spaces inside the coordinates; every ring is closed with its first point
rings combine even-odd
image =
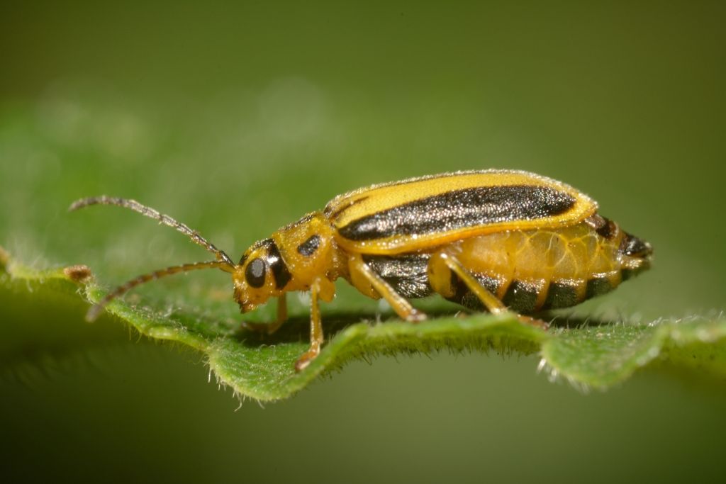
{"type": "Polygon", "coordinates": [[[340,227],[350,240],[431,234],[565,213],[574,197],[549,186],[477,186],[452,190],[358,218],[340,227]]]}

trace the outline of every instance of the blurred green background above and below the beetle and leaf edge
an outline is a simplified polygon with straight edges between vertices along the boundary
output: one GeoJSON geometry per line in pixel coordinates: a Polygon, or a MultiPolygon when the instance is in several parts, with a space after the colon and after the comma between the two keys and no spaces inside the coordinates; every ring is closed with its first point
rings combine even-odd
{"type": "MultiPolygon", "coordinates": [[[[654,268],[569,311],[724,308],[723,2],[4,3],[0,245],[107,284],[206,258],[134,197],[236,258],[335,194],[519,168],[648,239],[654,268]]],[[[231,296],[219,274],[144,289],[231,296]]],[[[338,284],[336,304],[369,308],[338,284]]],[[[143,292],[143,291],[142,291],[143,292]]],[[[537,356],[379,358],[238,411],[197,353],[0,289],[11,479],[724,482],[726,386],[658,366],[583,395],[537,356]]],[[[234,309],[229,298],[230,313],[234,309]]],[[[299,303],[293,311],[304,312],[299,303]]]]}

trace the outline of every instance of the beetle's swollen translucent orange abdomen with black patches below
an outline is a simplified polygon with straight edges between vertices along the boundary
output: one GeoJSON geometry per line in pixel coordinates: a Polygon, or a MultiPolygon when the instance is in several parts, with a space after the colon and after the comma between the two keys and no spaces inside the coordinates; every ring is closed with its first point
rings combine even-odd
{"type": "MultiPolygon", "coordinates": [[[[464,239],[456,256],[513,311],[567,308],[604,294],[622,280],[618,230],[603,237],[589,223],[561,229],[507,231],[464,239]]],[[[451,300],[482,305],[462,282],[451,300]]]]}

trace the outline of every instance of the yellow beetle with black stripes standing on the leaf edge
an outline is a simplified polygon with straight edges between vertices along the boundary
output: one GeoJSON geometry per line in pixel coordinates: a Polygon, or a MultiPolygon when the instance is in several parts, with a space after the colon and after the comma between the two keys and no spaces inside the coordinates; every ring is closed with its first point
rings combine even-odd
{"type": "Polygon", "coordinates": [[[310,348],[301,370],[319,354],[319,301],[335,296],[343,277],[370,298],[383,298],[406,321],[425,314],[409,299],[434,293],[467,308],[525,316],[566,308],[617,287],[650,266],[653,249],[597,213],[597,203],[560,181],[526,171],[457,171],[376,184],[339,195],[253,244],[232,262],[224,251],[169,216],[134,200],[90,197],[118,205],[186,234],[216,257],[138,276],[91,307],[95,319],[115,298],[163,276],[205,268],[232,274],[234,300],[252,311],[277,298],[277,319],[253,324],[274,332],[287,318],[285,295],[310,291],[310,348]]]}

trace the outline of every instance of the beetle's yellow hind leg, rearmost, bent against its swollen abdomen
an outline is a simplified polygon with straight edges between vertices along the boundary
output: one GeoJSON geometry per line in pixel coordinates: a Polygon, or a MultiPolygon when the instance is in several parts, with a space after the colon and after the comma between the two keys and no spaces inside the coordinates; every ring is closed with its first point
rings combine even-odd
{"type": "MultiPolygon", "coordinates": [[[[445,252],[435,253],[428,262],[428,280],[433,290],[439,292],[444,297],[454,295],[454,288],[451,283],[451,273],[461,279],[466,287],[473,292],[477,298],[484,304],[487,311],[492,314],[500,314],[507,311],[507,306],[497,299],[497,296],[489,292],[486,287],[482,286],[471,273],[461,265],[454,255],[445,252]]],[[[525,324],[542,327],[547,329],[549,324],[541,319],[532,318],[530,316],[517,315],[517,318],[525,324]]]]}

